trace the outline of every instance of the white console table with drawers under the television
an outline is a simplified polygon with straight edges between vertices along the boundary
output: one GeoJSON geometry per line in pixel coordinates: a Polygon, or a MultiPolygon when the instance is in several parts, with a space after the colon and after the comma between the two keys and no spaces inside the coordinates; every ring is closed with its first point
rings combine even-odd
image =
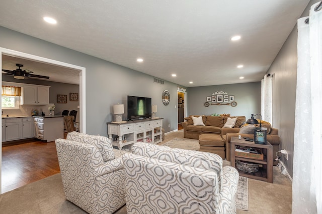
{"type": "Polygon", "coordinates": [[[112,145],[119,149],[135,142],[159,143],[162,142],[163,118],[143,119],[126,123],[107,123],[107,133],[112,145]]]}

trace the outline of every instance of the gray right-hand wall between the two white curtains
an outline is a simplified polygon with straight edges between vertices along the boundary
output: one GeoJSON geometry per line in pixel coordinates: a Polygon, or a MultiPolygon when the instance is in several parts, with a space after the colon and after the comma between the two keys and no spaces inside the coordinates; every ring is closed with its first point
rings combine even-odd
{"type": "MultiPolygon", "coordinates": [[[[319,1],[310,1],[301,17],[308,16],[309,8],[319,1]]],[[[293,150],[295,124],[295,96],[297,74],[297,25],[285,41],[267,73],[273,74],[273,127],[279,129],[280,149],[288,152],[284,160],[293,177],[293,150]]]]}

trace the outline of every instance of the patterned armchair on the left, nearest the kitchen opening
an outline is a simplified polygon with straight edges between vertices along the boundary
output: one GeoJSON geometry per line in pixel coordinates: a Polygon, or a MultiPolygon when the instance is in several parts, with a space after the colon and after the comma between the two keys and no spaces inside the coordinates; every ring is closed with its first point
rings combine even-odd
{"type": "Polygon", "coordinates": [[[70,132],[55,141],[67,200],[89,213],[113,213],[125,204],[122,155],[107,137],[70,132]]]}

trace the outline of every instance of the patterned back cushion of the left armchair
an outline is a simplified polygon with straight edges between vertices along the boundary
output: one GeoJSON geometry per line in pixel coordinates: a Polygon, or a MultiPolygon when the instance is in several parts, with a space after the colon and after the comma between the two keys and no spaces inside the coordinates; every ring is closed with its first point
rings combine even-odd
{"type": "Polygon", "coordinates": [[[67,134],[66,139],[96,146],[101,152],[104,161],[115,158],[112,143],[105,136],[89,135],[73,131],[67,134]]]}

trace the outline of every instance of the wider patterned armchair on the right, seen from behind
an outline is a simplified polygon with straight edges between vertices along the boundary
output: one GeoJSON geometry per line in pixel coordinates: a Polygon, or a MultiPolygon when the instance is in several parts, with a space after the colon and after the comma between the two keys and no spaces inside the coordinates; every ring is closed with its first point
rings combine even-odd
{"type": "Polygon", "coordinates": [[[123,155],[127,213],[236,213],[238,172],[217,154],[135,143],[123,155]]]}

